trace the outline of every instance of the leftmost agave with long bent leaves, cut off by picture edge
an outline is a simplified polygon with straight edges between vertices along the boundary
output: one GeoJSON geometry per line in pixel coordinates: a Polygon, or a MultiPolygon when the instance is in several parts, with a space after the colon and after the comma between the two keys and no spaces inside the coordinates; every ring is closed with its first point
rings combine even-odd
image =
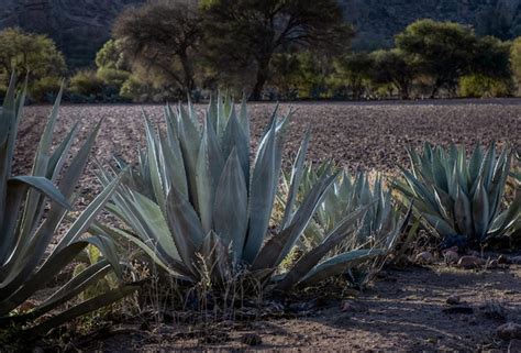
{"type": "MultiPolygon", "coordinates": [[[[13,176],[13,154],[16,129],[23,112],[24,91],[16,100],[15,79],[11,79],[0,114],[0,326],[10,322],[27,323],[65,302],[70,304],[70,299],[111,269],[121,275],[114,243],[102,234],[84,234],[111,197],[119,177],[71,222],[58,244],[52,245],[58,227],[64,224],[64,218],[70,209],[75,187],[100,125],[96,126],[69,161],[69,167],[64,169],[78,125],[51,152],[62,97],[59,92],[40,141],[32,174],[13,176]],[[54,181],[58,175],[60,180],[56,187],[54,181]],[[103,258],[86,267],[30,311],[20,309],[35,293],[45,288],[88,244],[100,249],[103,258]]],[[[57,315],[46,316],[47,319],[37,321],[38,324],[33,329],[45,332],[69,319],[111,304],[134,289],[132,286],[119,286],[101,296],[70,306],[57,315]]]]}

